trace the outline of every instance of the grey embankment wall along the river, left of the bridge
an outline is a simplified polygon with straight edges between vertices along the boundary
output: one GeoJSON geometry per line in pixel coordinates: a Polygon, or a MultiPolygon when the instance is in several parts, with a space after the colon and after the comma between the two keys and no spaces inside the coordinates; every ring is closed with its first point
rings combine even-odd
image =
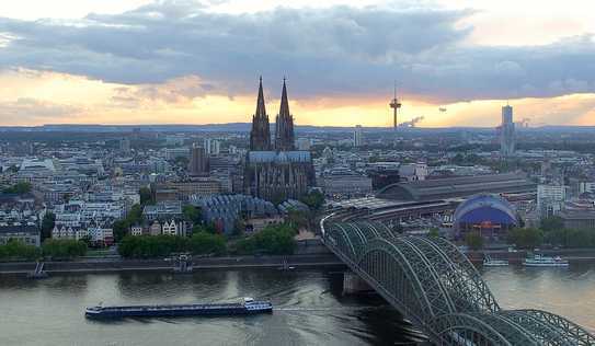
{"type": "MultiPolygon", "coordinates": [[[[242,268],[344,268],[333,254],[299,254],[287,256],[234,256],[193,258],[194,270],[242,269],[242,268]]],[[[0,274],[28,274],[35,269],[34,262],[0,263],[0,274]]],[[[170,258],[122,260],[87,258],[69,262],[46,262],[46,273],[105,273],[105,272],[172,272],[170,258]]]]}

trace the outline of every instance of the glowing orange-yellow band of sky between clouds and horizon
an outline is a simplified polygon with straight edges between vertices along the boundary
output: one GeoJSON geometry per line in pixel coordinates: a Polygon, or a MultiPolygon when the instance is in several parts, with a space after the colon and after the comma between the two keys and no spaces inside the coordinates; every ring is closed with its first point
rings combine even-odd
{"type": "MultiPolygon", "coordinates": [[[[4,71],[0,84],[1,125],[43,124],[221,124],[250,122],[254,113],[256,84],[252,94],[229,97],[205,94],[172,96],[199,80],[175,79],[162,84],[124,85],[83,77],[32,70],[4,71]],[[147,89],[151,92],[147,93],[147,89]]],[[[298,125],[390,126],[390,93],[377,97],[312,97],[291,100],[298,125]]],[[[265,92],[266,109],[273,119],[278,112],[278,90],[265,92]]],[[[571,94],[548,99],[508,101],[515,118],[533,125],[595,125],[595,94],[571,94]]],[[[399,122],[423,116],[422,127],[496,126],[505,100],[481,100],[453,104],[431,104],[404,99],[399,122]],[[446,108],[440,112],[439,108],[446,108]]]]}

